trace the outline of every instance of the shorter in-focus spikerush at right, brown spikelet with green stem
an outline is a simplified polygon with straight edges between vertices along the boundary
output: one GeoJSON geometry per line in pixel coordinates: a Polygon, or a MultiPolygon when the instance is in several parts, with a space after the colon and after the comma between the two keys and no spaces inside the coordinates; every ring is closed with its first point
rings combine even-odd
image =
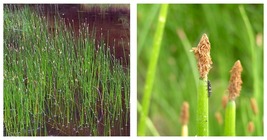
{"type": "Polygon", "coordinates": [[[238,60],[235,62],[231,72],[230,83],[228,86],[228,103],[225,109],[225,124],[224,134],[225,136],[236,135],[236,98],[240,95],[242,88],[241,72],[243,68],[241,62],[238,60]]]}

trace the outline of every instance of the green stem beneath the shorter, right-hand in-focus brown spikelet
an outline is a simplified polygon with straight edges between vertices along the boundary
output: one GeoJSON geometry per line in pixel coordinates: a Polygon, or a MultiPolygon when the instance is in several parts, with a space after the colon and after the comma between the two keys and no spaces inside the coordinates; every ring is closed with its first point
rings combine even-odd
{"type": "Polygon", "coordinates": [[[225,126],[224,126],[224,134],[225,136],[235,136],[235,101],[230,100],[227,103],[225,110],[225,126]]]}

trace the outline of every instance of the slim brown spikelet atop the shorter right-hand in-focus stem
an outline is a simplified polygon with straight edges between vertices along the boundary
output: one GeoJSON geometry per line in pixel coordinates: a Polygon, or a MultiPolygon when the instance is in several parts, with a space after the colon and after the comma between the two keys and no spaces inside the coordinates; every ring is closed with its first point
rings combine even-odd
{"type": "Polygon", "coordinates": [[[228,91],[229,91],[229,100],[235,100],[236,97],[239,96],[240,91],[241,91],[241,84],[242,84],[242,79],[241,79],[241,72],[243,68],[239,60],[237,60],[232,68],[231,72],[231,77],[230,77],[230,83],[228,86],[228,91]]]}

